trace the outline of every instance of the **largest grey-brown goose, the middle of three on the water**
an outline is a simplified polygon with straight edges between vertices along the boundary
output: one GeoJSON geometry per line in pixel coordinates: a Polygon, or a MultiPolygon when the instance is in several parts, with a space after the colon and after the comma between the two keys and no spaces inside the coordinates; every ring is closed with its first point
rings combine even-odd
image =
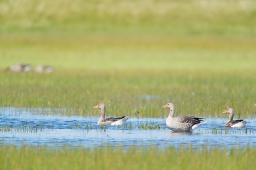
{"type": "Polygon", "coordinates": [[[207,121],[202,121],[203,118],[195,116],[177,116],[174,117],[174,104],[167,103],[162,108],[170,109],[170,114],[166,119],[166,126],[175,132],[193,131],[207,121]]]}

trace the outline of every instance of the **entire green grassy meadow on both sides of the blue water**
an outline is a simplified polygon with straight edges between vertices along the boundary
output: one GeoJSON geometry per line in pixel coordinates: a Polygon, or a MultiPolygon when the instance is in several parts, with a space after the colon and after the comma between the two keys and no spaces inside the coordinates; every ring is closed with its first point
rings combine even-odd
{"type": "MultiPolygon", "coordinates": [[[[253,119],[255,18],[254,0],[2,0],[0,107],[99,117],[93,107],[105,103],[106,116],[164,118],[162,106],[172,102],[175,116],[226,119],[222,112],[232,107],[236,118],[253,119]],[[5,71],[15,63],[55,70],[5,71]]],[[[122,149],[2,141],[0,169],[255,167],[255,146],[122,149]]]]}

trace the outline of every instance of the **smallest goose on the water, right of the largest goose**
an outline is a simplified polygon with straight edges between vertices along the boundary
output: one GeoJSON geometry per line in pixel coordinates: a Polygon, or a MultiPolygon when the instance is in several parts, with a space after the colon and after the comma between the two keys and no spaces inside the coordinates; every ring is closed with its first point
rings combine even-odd
{"type": "Polygon", "coordinates": [[[225,127],[228,128],[245,128],[246,120],[233,120],[234,110],[232,108],[226,109],[225,112],[229,114],[229,120],[226,122],[225,127]]]}

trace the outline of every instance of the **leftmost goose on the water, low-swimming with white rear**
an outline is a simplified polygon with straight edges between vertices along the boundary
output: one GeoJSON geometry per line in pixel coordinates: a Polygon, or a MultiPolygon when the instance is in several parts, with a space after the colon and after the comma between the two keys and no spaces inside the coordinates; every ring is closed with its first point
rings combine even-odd
{"type": "Polygon", "coordinates": [[[127,116],[105,118],[106,106],[105,104],[102,104],[102,103],[96,105],[93,108],[101,109],[101,118],[100,120],[98,120],[98,125],[113,125],[113,126],[123,125],[129,118],[127,116]]]}

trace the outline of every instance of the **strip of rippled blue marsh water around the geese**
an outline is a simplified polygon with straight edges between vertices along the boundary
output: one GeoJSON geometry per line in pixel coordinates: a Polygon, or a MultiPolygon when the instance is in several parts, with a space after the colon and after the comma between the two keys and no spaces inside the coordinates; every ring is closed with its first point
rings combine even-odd
{"type": "Polygon", "coordinates": [[[129,118],[125,126],[98,126],[98,117],[34,114],[0,108],[0,144],[68,146],[256,146],[256,119],[247,128],[224,128],[227,117],[206,118],[193,133],[174,133],[166,118],[129,118]]]}

